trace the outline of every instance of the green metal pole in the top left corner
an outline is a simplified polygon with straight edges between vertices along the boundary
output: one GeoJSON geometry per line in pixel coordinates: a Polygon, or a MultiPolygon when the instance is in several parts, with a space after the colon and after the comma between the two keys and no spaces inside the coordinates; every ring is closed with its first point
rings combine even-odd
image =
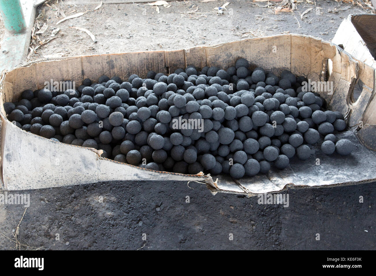
{"type": "Polygon", "coordinates": [[[0,12],[6,30],[15,34],[26,30],[20,0],[0,0],[0,12]]]}

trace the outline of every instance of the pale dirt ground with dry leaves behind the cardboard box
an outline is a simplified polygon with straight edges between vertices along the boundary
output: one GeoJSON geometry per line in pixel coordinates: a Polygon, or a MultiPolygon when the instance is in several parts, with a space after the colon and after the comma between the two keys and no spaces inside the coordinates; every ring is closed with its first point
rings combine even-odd
{"type": "MultiPolygon", "coordinates": [[[[222,15],[217,15],[214,8],[226,1],[174,1],[170,2],[170,8],[160,6],[159,14],[156,6],[145,4],[104,4],[93,11],[97,4],[53,5],[55,2],[48,2],[51,7],[44,5],[38,9],[39,26],[46,23],[48,27],[43,34],[35,36],[41,41],[47,41],[51,38],[52,30],[59,28],[58,38],[40,46],[36,54],[29,56],[29,60],[44,58],[46,55],[174,50],[282,33],[299,33],[330,41],[347,15],[369,12],[359,6],[333,0],[316,1],[316,4],[303,1],[297,4],[296,11],[279,14],[275,14],[274,6],[260,8],[238,0],[230,2],[222,15]],[[310,8],[313,9],[302,19],[303,12],[310,8]],[[56,25],[63,18],[62,15],[56,15],[60,14],[58,10],[67,16],[86,13],[56,25]],[[89,30],[97,42],[94,43],[85,32],[72,27],[89,30]]],[[[265,2],[259,3],[265,5],[265,2]]]]}

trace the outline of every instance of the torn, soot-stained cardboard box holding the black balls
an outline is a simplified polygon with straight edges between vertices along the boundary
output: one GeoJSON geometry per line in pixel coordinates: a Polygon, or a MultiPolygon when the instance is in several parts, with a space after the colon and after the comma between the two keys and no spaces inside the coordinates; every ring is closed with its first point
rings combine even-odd
{"type": "Polygon", "coordinates": [[[253,196],[287,187],[327,187],[376,181],[376,99],[375,71],[353,59],[334,44],[303,35],[277,35],[245,39],[215,46],[176,51],[75,56],[61,60],[35,62],[9,72],[1,79],[1,180],[5,190],[39,189],[111,180],[182,180],[205,183],[212,193],[225,192],[253,196]],[[280,75],[289,69],[312,81],[332,81],[333,93],[321,93],[329,110],[345,115],[349,130],[340,134],[356,145],[349,156],[327,156],[317,148],[308,160],[291,160],[284,170],[272,169],[268,175],[233,180],[227,175],[182,175],[156,172],[100,156],[95,149],[54,142],[27,133],[6,119],[3,103],[18,100],[24,89],[40,89],[44,81],[98,79],[101,75],[128,78],[136,73],[146,77],[149,70],[170,73],[187,65],[218,66],[226,69],[244,57],[252,67],[280,75]],[[331,74],[327,73],[332,61],[331,74]],[[351,102],[354,87],[359,98],[351,102]],[[363,127],[359,128],[359,121],[363,127]],[[359,139],[358,139],[359,138],[359,139]],[[317,164],[319,158],[320,165],[317,164]],[[215,180],[215,181],[214,181],[215,180]]]}

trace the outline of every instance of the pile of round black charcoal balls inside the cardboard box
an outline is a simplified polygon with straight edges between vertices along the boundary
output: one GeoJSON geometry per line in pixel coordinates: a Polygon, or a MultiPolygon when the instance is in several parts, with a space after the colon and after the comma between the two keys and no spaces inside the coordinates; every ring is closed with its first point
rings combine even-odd
{"type": "Polygon", "coordinates": [[[250,69],[240,58],[227,70],[194,66],[127,81],[103,75],[62,92],[25,90],[5,103],[9,121],[27,132],[76,146],[102,149],[102,157],[146,169],[235,179],[284,169],[306,160],[321,143],[324,154],[350,154],[337,140],[346,122],[325,110],[325,100],[302,91],[305,77],[250,69]],[[177,119],[201,128],[176,128],[177,119]],[[193,121],[193,120],[191,120],[193,121]]]}

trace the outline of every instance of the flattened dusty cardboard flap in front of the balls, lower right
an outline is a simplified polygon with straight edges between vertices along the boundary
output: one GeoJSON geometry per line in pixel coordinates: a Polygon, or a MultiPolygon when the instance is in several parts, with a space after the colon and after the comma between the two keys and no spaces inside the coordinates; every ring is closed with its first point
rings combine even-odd
{"type": "Polygon", "coordinates": [[[317,146],[311,149],[311,158],[299,160],[294,157],[286,169],[272,168],[267,175],[243,177],[232,183],[229,183],[228,178],[220,177],[218,187],[227,190],[233,185],[238,185],[239,188],[233,189],[234,192],[246,192],[252,196],[265,193],[265,190],[280,191],[287,185],[314,187],[376,181],[376,152],[363,146],[352,130],[336,134],[336,136],[338,139],[349,139],[354,143],[356,149],[351,155],[341,156],[337,153],[326,155],[317,146]],[[320,165],[316,164],[317,158],[320,159],[320,165]]]}

